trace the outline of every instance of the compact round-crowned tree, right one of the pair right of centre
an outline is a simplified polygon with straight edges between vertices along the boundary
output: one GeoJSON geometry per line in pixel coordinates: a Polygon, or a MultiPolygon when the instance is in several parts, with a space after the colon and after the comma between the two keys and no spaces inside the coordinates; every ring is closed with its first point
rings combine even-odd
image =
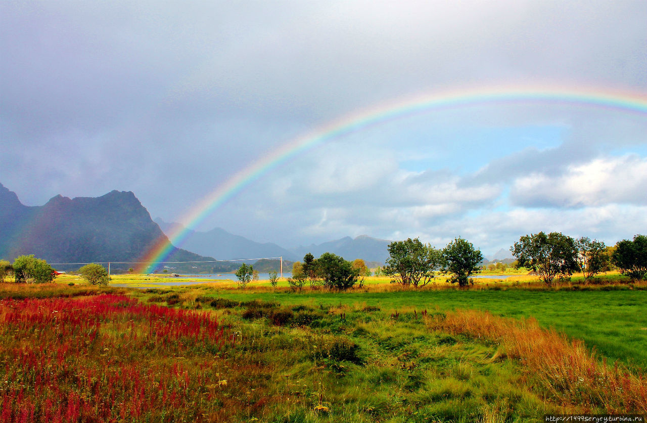
{"type": "Polygon", "coordinates": [[[443,248],[441,258],[443,272],[453,275],[449,282],[458,282],[459,286],[467,286],[470,276],[481,271],[479,263],[483,261],[481,250],[461,237],[455,238],[443,248]]]}

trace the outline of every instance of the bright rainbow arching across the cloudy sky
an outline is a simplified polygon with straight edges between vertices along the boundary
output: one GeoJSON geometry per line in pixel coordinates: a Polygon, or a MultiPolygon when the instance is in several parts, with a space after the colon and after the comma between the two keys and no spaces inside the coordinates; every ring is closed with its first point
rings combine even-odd
{"type": "Polygon", "coordinates": [[[334,120],[310,133],[289,141],[279,148],[234,174],[205,196],[182,218],[184,229],[160,237],[155,245],[140,260],[148,262],[140,271],[149,273],[160,262],[164,262],[173,251],[174,245],[181,245],[193,229],[215,209],[241,192],[247,185],[263,174],[283,165],[293,157],[312,148],[339,139],[346,135],[365,130],[402,117],[426,113],[437,109],[464,108],[487,104],[553,104],[587,108],[601,108],[623,113],[647,115],[647,95],[600,91],[597,89],[574,89],[573,87],[490,87],[462,91],[448,91],[431,95],[408,98],[395,103],[381,105],[334,120]]]}

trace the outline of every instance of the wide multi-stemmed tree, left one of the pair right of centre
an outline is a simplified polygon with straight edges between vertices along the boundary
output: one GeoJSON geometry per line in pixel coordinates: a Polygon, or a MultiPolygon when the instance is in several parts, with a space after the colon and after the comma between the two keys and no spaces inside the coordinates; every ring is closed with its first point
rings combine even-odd
{"type": "Polygon", "coordinates": [[[431,244],[422,244],[418,238],[391,242],[388,251],[389,258],[382,272],[391,277],[391,283],[415,288],[425,286],[441,264],[440,251],[431,244]]]}

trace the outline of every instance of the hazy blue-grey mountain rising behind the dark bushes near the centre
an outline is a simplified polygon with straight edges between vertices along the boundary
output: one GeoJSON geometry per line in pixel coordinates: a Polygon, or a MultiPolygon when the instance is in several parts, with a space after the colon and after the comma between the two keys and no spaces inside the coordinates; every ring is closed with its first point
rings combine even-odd
{"type": "Polygon", "coordinates": [[[312,253],[313,256],[319,257],[325,252],[334,253],[344,257],[346,260],[353,261],[355,258],[362,258],[366,262],[378,262],[384,264],[389,258],[387,247],[391,241],[371,238],[371,236],[360,235],[355,239],[345,236],[339,240],[324,242],[323,244],[312,244],[311,246],[299,246],[292,251],[303,259],[306,253],[312,253]]]}

